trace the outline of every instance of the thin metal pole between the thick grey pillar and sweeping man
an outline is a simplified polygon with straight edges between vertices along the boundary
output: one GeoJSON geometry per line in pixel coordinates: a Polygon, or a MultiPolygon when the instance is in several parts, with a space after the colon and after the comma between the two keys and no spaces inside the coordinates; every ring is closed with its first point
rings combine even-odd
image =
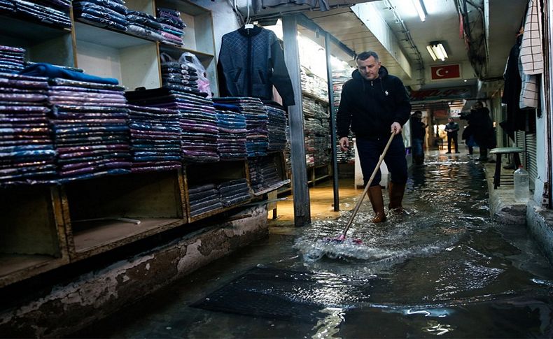
{"type": "Polygon", "coordinates": [[[328,78],[328,103],[330,106],[330,142],[332,143],[332,189],[334,191],[334,210],[340,210],[338,195],[338,158],[336,147],[336,110],[334,107],[334,87],[332,84],[332,63],[330,62],[330,34],[325,33],[326,77],[328,78]]]}

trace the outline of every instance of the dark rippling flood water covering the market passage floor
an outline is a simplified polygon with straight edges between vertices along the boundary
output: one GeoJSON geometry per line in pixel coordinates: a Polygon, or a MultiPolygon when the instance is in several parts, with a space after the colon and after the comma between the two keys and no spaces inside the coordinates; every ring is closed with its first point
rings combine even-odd
{"type": "Polygon", "coordinates": [[[272,232],[76,336],[552,338],[552,267],[524,225],[490,219],[482,164],[437,155],[409,175],[407,213],[372,224],[365,201],[360,245],[325,241],[349,212],[272,232]],[[232,283],[225,312],[191,307],[232,283]]]}

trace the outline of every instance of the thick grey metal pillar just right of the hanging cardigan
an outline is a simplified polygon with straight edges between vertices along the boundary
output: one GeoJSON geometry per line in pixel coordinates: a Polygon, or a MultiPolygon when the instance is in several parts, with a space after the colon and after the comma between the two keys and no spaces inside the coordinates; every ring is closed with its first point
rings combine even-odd
{"type": "Polygon", "coordinates": [[[303,134],[302,81],[300,53],[297,48],[297,15],[282,17],[284,60],[294,89],[295,105],[288,107],[290,144],[292,148],[292,193],[294,196],[294,224],[304,226],[311,223],[309,187],[307,187],[307,166],[305,164],[305,141],[303,134]]]}

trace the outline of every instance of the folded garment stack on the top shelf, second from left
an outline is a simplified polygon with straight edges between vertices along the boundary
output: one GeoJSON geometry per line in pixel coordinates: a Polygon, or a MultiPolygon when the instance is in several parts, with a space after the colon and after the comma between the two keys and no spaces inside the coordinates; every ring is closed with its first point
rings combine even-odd
{"type": "Polygon", "coordinates": [[[127,31],[127,11],[123,0],[73,1],[73,15],[76,20],[117,31],[127,31]]]}

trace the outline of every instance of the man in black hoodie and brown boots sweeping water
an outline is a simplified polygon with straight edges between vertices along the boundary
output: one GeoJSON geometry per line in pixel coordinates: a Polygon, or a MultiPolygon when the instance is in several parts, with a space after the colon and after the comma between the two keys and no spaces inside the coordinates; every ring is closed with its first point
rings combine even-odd
{"type": "MultiPolygon", "coordinates": [[[[411,112],[409,96],[401,80],[381,66],[376,52],[362,52],[356,62],[357,69],[342,88],[336,117],[339,145],[344,151],[348,149],[347,136],[351,128],[356,135],[363,181],[367,185],[388,139],[391,134],[395,135],[384,161],[391,175],[388,210],[401,212],[407,182],[407,159],[401,131],[411,112]]],[[[378,170],[367,193],[375,213],[374,223],[386,220],[380,180],[378,170]]]]}

